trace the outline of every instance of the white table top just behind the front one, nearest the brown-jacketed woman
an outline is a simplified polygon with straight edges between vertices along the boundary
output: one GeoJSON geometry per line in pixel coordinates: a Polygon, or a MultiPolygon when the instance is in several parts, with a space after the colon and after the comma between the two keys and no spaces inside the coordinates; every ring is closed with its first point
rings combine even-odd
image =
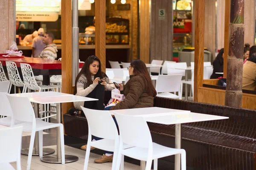
{"type": "Polygon", "coordinates": [[[189,113],[190,111],[176,110],[176,109],[168,109],[168,108],[135,108],[135,109],[123,109],[123,110],[113,110],[110,111],[111,115],[114,113],[131,115],[131,116],[143,116],[143,117],[155,117],[155,116],[166,116],[170,114],[184,114],[189,113]]]}

